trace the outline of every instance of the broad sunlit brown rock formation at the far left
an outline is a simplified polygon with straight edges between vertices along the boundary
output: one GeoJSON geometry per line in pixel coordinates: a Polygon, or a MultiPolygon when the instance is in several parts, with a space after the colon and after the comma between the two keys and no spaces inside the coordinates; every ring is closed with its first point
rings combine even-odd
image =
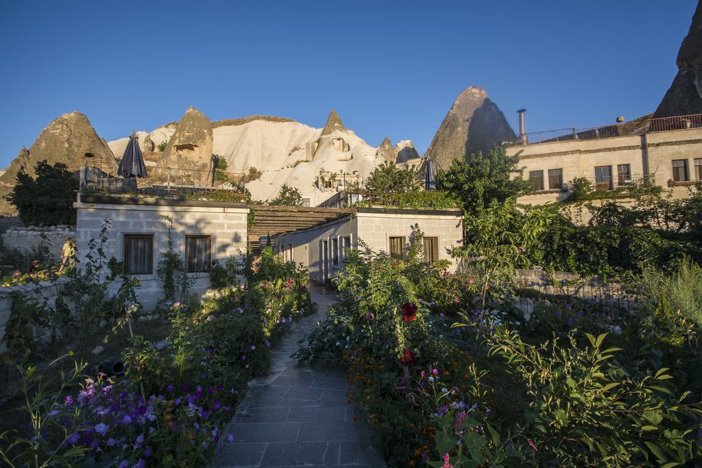
{"type": "Polygon", "coordinates": [[[0,175],[0,211],[17,213],[5,196],[11,192],[20,171],[34,175],[34,166],[44,159],[52,165],[65,163],[69,171],[78,171],[86,165],[86,153],[92,154],[87,159],[90,166],[107,173],[117,171],[117,162],[110,147],[95,133],[88,117],[80,112],[71,112],[54,119],[29,149],[22,147],[5,173],[0,175]]]}

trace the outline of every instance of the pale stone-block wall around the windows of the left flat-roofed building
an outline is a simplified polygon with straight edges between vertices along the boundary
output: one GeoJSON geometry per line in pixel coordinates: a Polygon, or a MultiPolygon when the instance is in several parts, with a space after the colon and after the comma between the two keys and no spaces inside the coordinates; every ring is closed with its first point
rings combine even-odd
{"type": "MultiPolygon", "coordinates": [[[[221,203],[177,199],[121,198],[109,196],[81,196],[75,203],[78,209],[77,247],[79,260],[86,255],[88,242],[98,239],[105,220],[110,220],[105,253],[124,261],[125,236],[145,234],[152,237],[152,272],[134,275],[141,281],[139,301],[145,309],[152,309],[162,297],[161,281],[156,274],[161,254],[168,249],[166,220],[173,219],[173,248],[186,259],[186,236],[209,236],[211,260],[224,260],[246,253],[245,203],[221,203]]],[[[209,287],[207,273],[189,274],[194,280],[191,293],[203,296],[209,287]]],[[[110,286],[114,291],[119,281],[110,286]]]]}

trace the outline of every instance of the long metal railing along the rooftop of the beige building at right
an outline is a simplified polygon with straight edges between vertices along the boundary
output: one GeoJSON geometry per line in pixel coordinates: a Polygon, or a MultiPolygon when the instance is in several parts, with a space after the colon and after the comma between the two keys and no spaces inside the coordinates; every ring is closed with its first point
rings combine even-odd
{"type": "Polygon", "coordinates": [[[615,123],[590,128],[558,128],[543,132],[531,132],[518,135],[516,143],[522,145],[536,145],[538,143],[564,142],[574,140],[598,140],[600,138],[614,138],[628,135],[641,135],[642,133],[665,132],[674,130],[689,130],[702,128],[702,114],[691,114],[674,117],[659,117],[644,121],[629,123],[615,123]]]}

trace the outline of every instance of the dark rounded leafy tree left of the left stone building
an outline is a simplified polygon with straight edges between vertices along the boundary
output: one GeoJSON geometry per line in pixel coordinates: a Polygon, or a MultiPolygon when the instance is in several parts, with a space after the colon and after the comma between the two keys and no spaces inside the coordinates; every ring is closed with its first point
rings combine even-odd
{"type": "Polygon", "coordinates": [[[37,178],[24,171],[18,173],[15,187],[6,196],[20,212],[25,225],[74,225],[78,178],[64,163],[53,166],[39,161],[34,167],[37,178]]]}

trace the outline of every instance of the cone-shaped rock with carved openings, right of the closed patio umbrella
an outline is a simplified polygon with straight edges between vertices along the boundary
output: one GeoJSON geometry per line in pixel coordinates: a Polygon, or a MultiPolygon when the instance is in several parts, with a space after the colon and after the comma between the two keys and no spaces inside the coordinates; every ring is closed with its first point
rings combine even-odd
{"type": "Polygon", "coordinates": [[[167,168],[171,177],[183,180],[185,173],[192,183],[205,182],[211,175],[212,126],[209,119],[194,107],[188,107],[178,123],[163,156],[159,159],[154,178],[164,178],[167,168]]]}

